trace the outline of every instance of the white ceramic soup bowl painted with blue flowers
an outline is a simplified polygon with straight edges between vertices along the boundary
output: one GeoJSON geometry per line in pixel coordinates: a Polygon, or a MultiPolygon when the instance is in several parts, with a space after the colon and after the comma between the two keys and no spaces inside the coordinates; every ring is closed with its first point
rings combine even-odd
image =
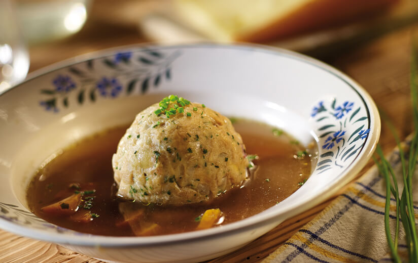
{"type": "Polygon", "coordinates": [[[41,70],[0,96],[0,227],[106,261],[189,262],[233,251],[335,194],[370,158],[380,120],[370,96],[334,68],[257,46],[131,46],[41,70]],[[154,237],[107,237],[49,224],[25,190],[59,149],[126,124],[168,94],[227,116],[267,122],[319,154],[308,181],[281,203],[218,228],[154,237]]]}

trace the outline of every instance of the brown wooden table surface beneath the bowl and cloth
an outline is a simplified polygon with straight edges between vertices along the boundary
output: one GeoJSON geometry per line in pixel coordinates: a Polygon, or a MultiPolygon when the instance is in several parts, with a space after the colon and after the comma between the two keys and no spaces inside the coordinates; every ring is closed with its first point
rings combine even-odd
{"type": "MultiPolygon", "coordinates": [[[[144,42],[135,26],[103,19],[103,9],[93,5],[92,15],[77,34],[29,49],[30,71],[51,63],[105,48],[144,42]],[[94,15],[96,14],[96,15],[94,15]],[[98,15],[97,15],[98,14],[98,15]]],[[[393,120],[401,138],[411,133],[409,62],[411,35],[418,24],[388,33],[362,46],[328,57],[331,65],[357,80],[377,106],[393,120]]],[[[386,153],[395,147],[389,129],[382,125],[380,144],[386,153]]],[[[369,161],[361,174],[373,165],[369,161]]],[[[341,190],[343,191],[343,189],[341,190]]],[[[267,234],[230,254],[208,262],[260,262],[281,246],[304,224],[321,212],[332,199],[283,222],[267,234]]],[[[102,262],[59,245],[16,236],[0,230],[0,262],[102,262]]]]}

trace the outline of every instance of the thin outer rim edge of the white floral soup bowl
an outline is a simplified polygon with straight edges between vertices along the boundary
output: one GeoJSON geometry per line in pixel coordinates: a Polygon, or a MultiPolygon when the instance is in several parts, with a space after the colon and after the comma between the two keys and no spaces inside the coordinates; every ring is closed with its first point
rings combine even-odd
{"type": "Polygon", "coordinates": [[[170,234],[170,235],[159,235],[159,236],[151,236],[151,237],[115,237],[115,236],[101,236],[101,235],[88,235],[83,234],[80,236],[68,236],[68,235],[61,235],[58,233],[47,233],[45,231],[39,229],[28,228],[25,226],[16,225],[12,222],[9,222],[0,217],[0,228],[21,235],[26,236],[29,238],[34,238],[38,240],[44,240],[48,242],[55,242],[61,244],[70,244],[70,245],[83,245],[83,246],[103,246],[103,247],[148,247],[148,246],[155,246],[155,245],[165,245],[169,243],[177,243],[177,242],[193,242],[198,239],[215,239],[221,236],[228,236],[237,232],[242,231],[250,231],[252,229],[257,229],[262,225],[273,223],[277,216],[285,216],[285,220],[292,216],[295,216],[303,211],[306,211],[313,206],[327,200],[331,196],[335,196],[336,192],[342,188],[344,185],[352,181],[356,174],[360,172],[360,170],[366,165],[368,160],[370,159],[371,155],[373,154],[377,142],[380,137],[380,117],[377,107],[371,98],[371,96],[367,93],[367,91],[355,80],[347,76],[346,74],[342,73],[338,69],[309,56],[282,49],[277,47],[259,45],[259,44],[249,44],[249,43],[233,43],[233,44],[224,44],[224,43],[213,43],[213,42],[200,42],[200,43],[192,43],[192,44],[181,44],[181,45],[150,45],[149,43],[141,43],[141,44],[133,44],[133,45],[125,45],[125,46],[118,46],[109,49],[94,51],[86,54],[82,54],[73,58],[69,58],[63,61],[59,61],[53,63],[49,66],[40,68],[36,71],[33,71],[28,74],[27,78],[11,87],[11,89],[3,92],[0,96],[4,96],[5,94],[11,92],[12,90],[19,89],[23,84],[26,82],[39,78],[47,73],[52,71],[62,69],[83,61],[87,61],[90,59],[99,59],[102,57],[109,56],[116,51],[121,50],[128,50],[128,49],[148,49],[148,50],[158,50],[158,49],[176,49],[176,48],[229,48],[229,49],[241,49],[247,51],[256,51],[256,52],[263,52],[263,53],[270,53],[272,55],[280,55],[285,56],[290,59],[296,59],[303,63],[308,63],[312,66],[315,66],[321,70],[325,70],[328,73],[334,75],[335,77],[339,78],[341,81],[345,82],[347,85],[351,86],[352,89],[358,94],[361,98],[363,103],[369,108],[370,111],[370,118],[369,118],[369,125],[372,123],[371,127],[373,130],[370,131],[369,141],[364,144],[362,150],[356,156],[356,158],[345,167],[339,174],[338,178],[333,179],[326,187],[322,193],[318,193],[316,195],[312,195],[309,198],[305,199],[303,202],[299,202],[297,204],[289,205],[286,209],[281,210],[269,210],[264,211],[263,216],[259,218],[259,214],[255,214],[251,217],[245,218],[244,220],[240,220],[234,223],[227,224],[222,227],[212,228],[207,230],[201,231],[192,231],[192,232],[185,232],[179,234],[170,234]],[[374,118],[371,118],[374,116],[374,118]],[[362,158],[358,158],[360,154],[362,154],[362,158]],[[353,163],[357,161],[357,164],[353,166],[353,163]],[[29,230],[29,231],[28,231],[29,230]]]}

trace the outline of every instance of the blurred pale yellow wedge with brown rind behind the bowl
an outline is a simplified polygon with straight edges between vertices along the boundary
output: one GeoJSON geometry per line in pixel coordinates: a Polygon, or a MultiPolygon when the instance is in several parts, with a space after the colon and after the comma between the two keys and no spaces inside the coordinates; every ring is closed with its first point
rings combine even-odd
{"type": "Polygon", "coordinates": [[[400,0],[175,0],[178,17],[216,41],[263,42],[384,13],[400,0]]]}

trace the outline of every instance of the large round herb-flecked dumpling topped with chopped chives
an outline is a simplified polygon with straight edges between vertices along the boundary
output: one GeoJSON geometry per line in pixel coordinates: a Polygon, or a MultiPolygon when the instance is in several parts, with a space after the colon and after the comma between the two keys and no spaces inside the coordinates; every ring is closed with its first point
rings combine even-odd
{"type": "Polygon", "coordinates": [[[112,164],[118,195],[144,203],[211,201],[248,178],[231,121],[173,95],[138,113],[112,164]]]}

